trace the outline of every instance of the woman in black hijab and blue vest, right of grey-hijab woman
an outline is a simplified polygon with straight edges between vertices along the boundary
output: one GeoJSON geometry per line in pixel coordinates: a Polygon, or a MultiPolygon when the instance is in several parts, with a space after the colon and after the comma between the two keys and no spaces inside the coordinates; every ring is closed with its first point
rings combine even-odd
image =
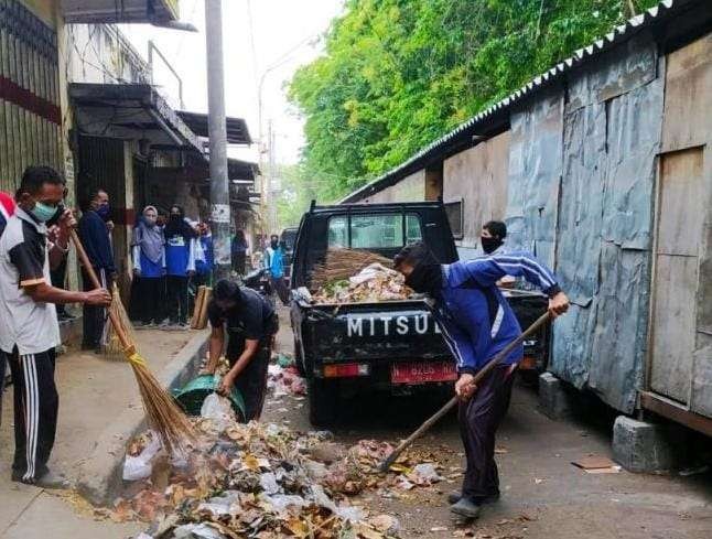
{"type": "Polygon", "coordinates": [[[173,328],[187,330],[187,281],[195,274],[196,234],[181,206],[171,206],[163,234],[169,319],[173,328]]]}

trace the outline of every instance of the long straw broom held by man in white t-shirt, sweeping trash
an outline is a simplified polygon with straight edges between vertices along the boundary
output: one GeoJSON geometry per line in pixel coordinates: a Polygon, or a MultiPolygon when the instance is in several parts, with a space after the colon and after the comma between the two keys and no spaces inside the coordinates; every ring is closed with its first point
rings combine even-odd
{"type": "MultiPolygon", "coordinates": [[[[79,260],[89,274],[89,279],[91,279],[91,283],[95,288],[100,288],[101,284],[99,279],[91,267],[91,262],[89,262],[76,230],[71,230],[71,236],[72,241],[76,247],[79,260]]],[[[123,331],[123,326],[121,325],[121,321],[116,309],[109,309],[109,320],[111,321],[114,331],[121,343],[123,354],[133,369],[149,424],[159,433],[163,448],[170,454],[184,454],[186,450],[197,441],[193,425],[177,403],[173,400],[173,397],[171,397],[155,379],[149,369],[145,359],[143,359],[136,351],[136,345],[129,339],[129,336],[123,331]]]]}

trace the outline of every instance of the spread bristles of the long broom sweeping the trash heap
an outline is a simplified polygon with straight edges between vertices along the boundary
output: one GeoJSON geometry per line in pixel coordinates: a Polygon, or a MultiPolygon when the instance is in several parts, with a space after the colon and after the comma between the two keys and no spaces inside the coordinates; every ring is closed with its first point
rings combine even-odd
{"type": "Polygon", "coordinates": [[[170,454],[186,454],[190,446],[195,445],[197,441],[193,424],[145,363],[130,363],[149,424],[158,432],[163,448],[170,454]]]}

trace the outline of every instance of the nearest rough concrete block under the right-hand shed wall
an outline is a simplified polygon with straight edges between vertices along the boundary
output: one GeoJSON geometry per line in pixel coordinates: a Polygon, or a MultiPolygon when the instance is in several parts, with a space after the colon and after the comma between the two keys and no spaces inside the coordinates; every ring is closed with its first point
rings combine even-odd
{"type": "Polygon", "coordinates": [[[613,424],[613,459],[628,472],[651,473],[675,467],[682,429],[618,416],[613,424]],[[678,440],[678,443],[675,443],[678,440]]]}

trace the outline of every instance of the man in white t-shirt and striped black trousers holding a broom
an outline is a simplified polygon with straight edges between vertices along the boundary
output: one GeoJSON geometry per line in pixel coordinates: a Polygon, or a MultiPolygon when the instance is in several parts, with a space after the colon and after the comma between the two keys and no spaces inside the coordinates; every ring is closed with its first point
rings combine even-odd
{"type": "Polygon", "coordinates": [[[0,238],[0,352],[14,387],[15,453],[12,481],[44,488],[66,487],[47,468],[57,424],[54,349],[61,344],[55,303],[108,305],[104,289],[69,292],[52,287],[50,265],[68,250],[71,211],[58,219],[54,241],[45,223],[62,204],[64,181],[48,166],[30,166],[15,194],[18,207],[0,238]]]}

